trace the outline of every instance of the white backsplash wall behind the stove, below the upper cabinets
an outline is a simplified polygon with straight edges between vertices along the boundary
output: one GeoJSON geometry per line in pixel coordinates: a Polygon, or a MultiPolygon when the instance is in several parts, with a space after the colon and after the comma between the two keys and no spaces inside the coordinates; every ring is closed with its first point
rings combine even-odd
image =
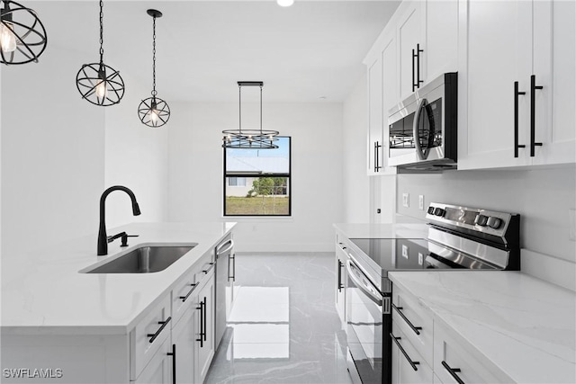
{"type": "Polygon", "coordinates": [[[398,175],[398,213],[424,219],[419,194],[425,206],[437,201],[519,213],[523,248],[576,263],[576,242],[569,238],[569,210],[576,206],[574,166],[398,175]],[[408,209],[402,207],[403,192],[410,193],[408,209]]]}

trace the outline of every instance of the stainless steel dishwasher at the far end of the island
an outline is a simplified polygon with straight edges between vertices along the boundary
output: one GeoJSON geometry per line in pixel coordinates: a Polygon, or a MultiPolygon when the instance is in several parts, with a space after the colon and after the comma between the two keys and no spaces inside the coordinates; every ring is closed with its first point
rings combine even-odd
{"type": "Polygon", "coordinates": [[[214,331],[214,346],[218,348],[226,330],[226,321],[234,299],[234,279],[236,272],[236,255],[234,255],[234,240],[232,234],[216,246],[216,329],[214,331]]]}

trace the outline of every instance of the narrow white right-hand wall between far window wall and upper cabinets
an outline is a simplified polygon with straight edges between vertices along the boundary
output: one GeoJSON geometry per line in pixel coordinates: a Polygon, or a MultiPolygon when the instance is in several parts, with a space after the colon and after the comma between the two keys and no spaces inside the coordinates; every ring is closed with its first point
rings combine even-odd
{"type": "Polygon", "coordinates": [[[343,183],[344,222],[370,221],[370,180],[366,174],[368,127],[367,80],[362,76],[344,103],[343,183]]]}

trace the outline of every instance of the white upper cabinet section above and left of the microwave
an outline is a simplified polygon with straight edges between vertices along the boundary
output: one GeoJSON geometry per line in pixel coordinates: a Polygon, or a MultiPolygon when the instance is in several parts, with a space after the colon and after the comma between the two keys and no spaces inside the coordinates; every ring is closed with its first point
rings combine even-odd
{"type": "Polygon", "coordinates": [[[457,70],[458,10],[455,1],[402,2],[366,55],[369,175],[396,173],[387,166],[392,107],[457,70]]]}

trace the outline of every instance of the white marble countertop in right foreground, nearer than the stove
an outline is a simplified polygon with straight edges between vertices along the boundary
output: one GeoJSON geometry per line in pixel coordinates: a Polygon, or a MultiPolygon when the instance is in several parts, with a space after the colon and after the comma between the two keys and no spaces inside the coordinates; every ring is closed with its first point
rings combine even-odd
{"type": "Polygon", "coordinates": [[[522,272],[391,272],[514,382],[576,382],[576,294],[522,272]]]}

